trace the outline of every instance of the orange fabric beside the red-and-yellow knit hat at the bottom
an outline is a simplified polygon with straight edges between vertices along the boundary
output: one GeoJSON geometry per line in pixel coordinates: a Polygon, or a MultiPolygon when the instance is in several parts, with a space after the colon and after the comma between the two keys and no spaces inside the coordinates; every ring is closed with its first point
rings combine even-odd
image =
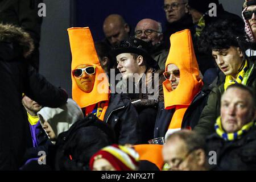
{"type": "Polygon", "coordinates": [[[164,164],[162,144],[138,144],[133,147],[139,154],[139,160],[148,160],[149,162],[156,164],[156,166],[162,170],[164,164]]]}

